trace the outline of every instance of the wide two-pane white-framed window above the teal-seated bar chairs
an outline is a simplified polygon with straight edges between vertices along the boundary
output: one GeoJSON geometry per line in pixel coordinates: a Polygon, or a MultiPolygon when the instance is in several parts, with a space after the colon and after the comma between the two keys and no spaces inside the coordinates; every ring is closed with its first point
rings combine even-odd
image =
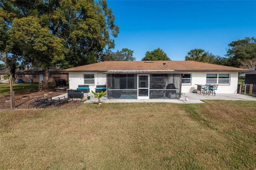
{"type": "Polygon", "coordinates": [[[206,74],[206,84],[229,84],[230,73],[209,73],[206,74]]]}

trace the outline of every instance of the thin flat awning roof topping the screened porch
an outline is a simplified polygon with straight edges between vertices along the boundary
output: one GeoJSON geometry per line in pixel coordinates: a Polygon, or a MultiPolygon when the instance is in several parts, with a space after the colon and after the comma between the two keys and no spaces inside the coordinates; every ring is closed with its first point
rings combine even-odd
{"type": "Polygon", "coordinates": [[[168,71],[168,70],[163,70],[163,71],[157,71],[157,70],[113,70],[113,71],[106,71],[103,72],[105,74],[186,74],[186,72],[182,71],[168,71]]]}

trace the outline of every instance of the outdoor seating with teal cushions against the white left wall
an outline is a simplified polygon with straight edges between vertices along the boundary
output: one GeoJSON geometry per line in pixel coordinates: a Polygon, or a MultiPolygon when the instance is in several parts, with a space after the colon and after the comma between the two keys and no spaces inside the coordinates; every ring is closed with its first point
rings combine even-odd
{"type": "MultiPolygon", "coordinates": [[[[106,85],[96,85],[95,92],[100,93],[101,91],[106,91],[106,85]]],[[[78,85],[76,89],[67,89],[68,97],[80,98],[84,97],[84,93],[90,93],[89,85],[78,85]]]]}

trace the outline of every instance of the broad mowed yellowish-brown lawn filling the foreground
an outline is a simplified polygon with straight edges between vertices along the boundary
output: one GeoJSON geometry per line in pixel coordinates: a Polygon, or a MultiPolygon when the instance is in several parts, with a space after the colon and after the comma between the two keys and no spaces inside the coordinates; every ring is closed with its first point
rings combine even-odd
{"type": "Polygon", "coordinates": [[[256,102],[0,111],[0,169],[254,169],[256,102]]]}

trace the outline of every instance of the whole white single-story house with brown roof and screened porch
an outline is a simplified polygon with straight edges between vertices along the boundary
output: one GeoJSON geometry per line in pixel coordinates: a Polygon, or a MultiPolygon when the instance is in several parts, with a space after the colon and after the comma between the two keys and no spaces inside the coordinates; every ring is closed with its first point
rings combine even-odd
{"type": "Polygon", "coordinates": [[[64,70],[70,89],[106,85],[108,98],[168,99],[191,93],[196,84],[218,84],[216,93],[236,93],[246,69],[197,61],[104,61],[64,70]]]}

